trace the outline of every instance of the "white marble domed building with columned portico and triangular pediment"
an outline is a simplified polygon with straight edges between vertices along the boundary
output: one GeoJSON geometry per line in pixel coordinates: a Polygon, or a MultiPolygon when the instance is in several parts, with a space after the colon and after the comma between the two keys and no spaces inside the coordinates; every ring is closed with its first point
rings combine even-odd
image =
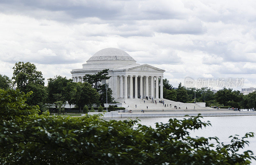
{"type": "Polygon", "coordinates": [[[82,69],[73,69],[74,82],[83,82],[85,74],[95,74],[103,69],[109,69],[111,76],[108,80],[102,80],[102,84],[108,83],[113,91],[114,98],[138,98],[151,96],[151,98],[163,98],[163,74],[164,70],[148,64],[137,64],[125,51],[116,48],[106,48],[96,52],[82,69]],[[158,89],[160,78],[160,95],[158,89]]]}

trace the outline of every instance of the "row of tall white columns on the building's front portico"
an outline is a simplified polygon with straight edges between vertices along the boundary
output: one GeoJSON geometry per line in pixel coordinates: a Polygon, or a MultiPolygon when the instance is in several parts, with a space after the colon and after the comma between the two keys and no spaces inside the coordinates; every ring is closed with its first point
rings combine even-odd
{"type": "MultiPolygon", "coordinates": [[[[128,89],[127,89],[127,77],[128,76],[120,76],[120,97],[124,98],[128,96],[128,89]],[[124,90],[123,90],[123,77],[124,77],[124,90]],[[123,94],[124,91],[124,94],[123,94]]],[[[130,76],[130,91],[129,95],[130,98],[133,98],[133,77],[134,77],[134,98],[137,99],[138,96],[138,76],[130,76]]],[[[145,85],[145,94],[144,96],[149,96],[148,95],[148,77],[149,76],[140,76],[140,95],[143,97],[143,77],[146,77],[146,85],[145,85]]],[[[150,81],[150,96],[151,98],[159,98],[159,88],[158,88],[158,77],[157,76],[150,76],[151,81],[150,81]],[[156,78],[156,85],[155,85],[155,79],[156,78]],[[156,88],[155,88],[156,87],[156,88]],[[154,95],[154,90],[155,95],[154,95]]],[[[116,85],[117,86],[117,85],[116,85]]],[[[117,88],[116,88],[117,91],[117,88]]],[[[163,99],[163,77],[160,77],[160,99],[163,99]]]]}

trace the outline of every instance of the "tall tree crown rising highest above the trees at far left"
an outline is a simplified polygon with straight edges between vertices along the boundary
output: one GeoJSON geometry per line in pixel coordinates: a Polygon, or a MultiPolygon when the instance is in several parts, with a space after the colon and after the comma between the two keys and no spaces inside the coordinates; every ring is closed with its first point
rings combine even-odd
{"type": "Polygon", "coordinates": [[[44,86],[44,78],[41,71],[36,70],[36,65],[30,62],[15,63],[12,79],[13,84],[21,91],[26,91],[26,86],[29,83],[44,86]]]}

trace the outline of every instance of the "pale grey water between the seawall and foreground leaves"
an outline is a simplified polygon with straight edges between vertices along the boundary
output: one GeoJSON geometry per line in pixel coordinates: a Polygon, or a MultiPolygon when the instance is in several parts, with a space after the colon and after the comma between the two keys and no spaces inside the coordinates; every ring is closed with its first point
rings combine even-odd
{"type": "MultiPolygon", "coordinates": [[[[177,119],[183,119],[184,117],[176,117],[177,119]]],[[[107,118],[105,120],[125,120],[128,118],[107,118]]],[[[132,118],[135,119],[135,118],[132,118]]],[[[168,123],[170,117],[141,117],[138,118],[140,124],[151,126],[156,128],[155,123],[168,123]]],[[[217,116],[217,117],[204,117],[202,121],[210,121],[212,126],[207,126],[196,131],[190,131],[191,137],[214,137],[217,136],[220,142],[224,144],[230,143],[230,135],[244,136],[247,132],[256,133],[256,116],[217,116]]],[[[256,137],[247,139],[250,144],[246,146],[244,150],[251,150],[256,156],[256,137]]],[[[214,143],[214,141],[212,141],[214,143]]],[[[214,143],[216,144],[216,143],[214,143]]],[[[242,150],[240,150],[242,152],[242,150]]],[[[253,165],[256,165],[256,161],[252,161],[253,165]]]]}

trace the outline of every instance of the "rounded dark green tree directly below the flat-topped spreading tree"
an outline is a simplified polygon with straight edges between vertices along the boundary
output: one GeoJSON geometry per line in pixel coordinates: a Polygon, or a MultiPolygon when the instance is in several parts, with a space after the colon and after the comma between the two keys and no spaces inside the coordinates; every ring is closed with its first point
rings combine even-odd
{"type": "Polygon", "coordinates": [[[92,105],[93,103],[97,103],[99,98],[99,93],[96,91],[96,89],[92,88],[89,83],[76,83],[74,102],[79,107],[79,112],[81,112],[81,107],[84,107],[84,105],[92,105]]]}

